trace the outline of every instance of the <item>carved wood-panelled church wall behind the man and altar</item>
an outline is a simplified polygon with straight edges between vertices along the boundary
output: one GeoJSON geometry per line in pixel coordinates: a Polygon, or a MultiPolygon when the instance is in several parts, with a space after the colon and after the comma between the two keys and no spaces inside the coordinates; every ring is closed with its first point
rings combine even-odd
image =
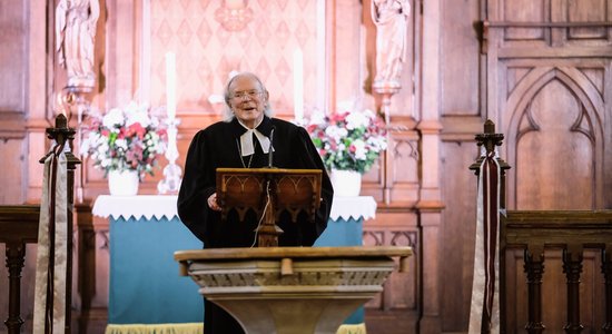
{"type": "MultiPolygon", "coordinates": [[[[0,204],[36,203],[40,197],[38,159],[46,151],[45,128],[51,125],[55,96],[66,80],[50,51],[57,2],[0,4],[0,204]]],[[[512,166],[510,208],[612,208],[612,0],[409,2],[408,60],[402,89],[391,100],[389,149],[364,175],[362,195],[373,196],[378,210],[375,219],[366,222],[363,238],[364,245],[409,245],[416,256],[408,273],[394,274],[366,310],[421,316],[422,333],[465,332],[476,212],[476,177],[467,167],[478,155],[474,135],[482,132],[486,118],[506,136],[500,154],[512,166]],[[608,26],[485,29],[481,24],[549,18],[608,26]],[[559,179],[572,183],[557,185],[559,179]],[[584,190],[579,199],[572,197],[576,187],[584,190]]],[[[176,52],[179,165],[196,131],[221,119],[221,104],[211,100],[223,94],[233,70],[257,72],[276,115],[290,119],[290,72],[297,49],[304,56],[306,116],[314,109],[334,110],[344,101],[371,109],[381,106],[381,97],[371,88],[376,27],[369,0],[251,0],[251,22],[231,33],[216,21],[219,4],[213,0],[99,3],[98,80],[87,98],[102,110],[142,99],[164,115],[165,53],[176,52]]],[[[71,125],[78,126],[76,117],[71,125]]],[[[165,164],[162,158],[160,165],[165,164]]],[[[87,208],[96,196],[107,194],[108,185],[90,161],[80,168],[78,187],[87,208]]],[[[140,194],[156,194],[160,178],[160,169],[147,176],[140,194]]],[[[90,275],[88,316],[103,322],[108,222],[87,215],[76,222],[88,226],[82,250],[91,261],[82,269],[90,275]]],[[[0,254],[3,249],[0,245],[0,254]]],[[[32,312],[32,254],[36,247],[28,247],[22,283],[27,324],[32,312]]],[[[559,267],[559,254],[550,257],[551,266],[559,267]]],[[[523,277],[521,256],[514,258],[512,273],[523,277]]],[[[584,282],[590,296],[601,295],[595,263],[596,255],[586,256],[590,269],[584,282]]],[[[7,275],[0,267],[1,288],[8,286],[7,275]]],[[[521,286],[516,284],[516,303],[524,302],[521,286]]],[[[554,288],[561,287],[551,285],[545,294],[554,294],[554,288]]],[[[6,299],[0,293],[2,320],[6,299]]],[[[588,321],[596,322],[596,316],[588,321]]],[[[524,317],[517,311],[513,321],[521,324],[524,317]]]]}

